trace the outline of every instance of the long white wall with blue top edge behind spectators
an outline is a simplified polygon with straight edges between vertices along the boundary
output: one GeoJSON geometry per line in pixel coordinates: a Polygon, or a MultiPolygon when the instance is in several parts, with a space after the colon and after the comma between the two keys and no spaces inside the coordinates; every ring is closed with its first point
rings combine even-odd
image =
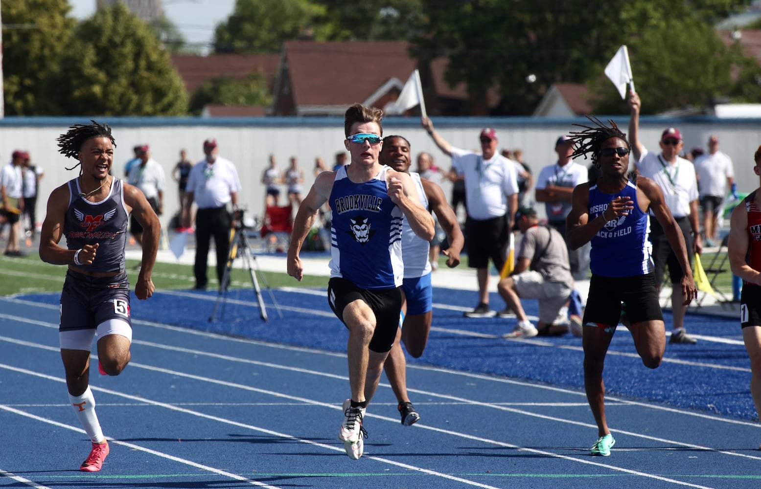
{"type": "MultiPolygon", "coordinates": [[[[261,173],[266,167],[269,154],[275,154],[281,170],[288,166],[288,158],[295,156],[306,177],[305,188],[314,182],[314,159],[323,157],[327,167],[333,166],[333,157],[338,151],[345,151],[343,145],[343,120],[339,118],[259,118],[259,119],[148,119],[148,118],[97,118],[113,126],[116,138],[116,153],[113,174],[123,176],[124,164],[132,157],[132,147],[149,144],[151,155],[167,173],[168,189],[164,196],[166,214],[162,221],[168,221],[179,208],[177,184],[170,179],[170,173],[179,160],[181,148],[186,148],[193,161],[203,157],[202,141],[216,138],[223,157],[237,166],[243,191],[239,202],[247,205],[249,215],[261,215],[264,204],[261,173]]],[[[66,132],[68,125],[87,122],[87,119],[72,118],[15,118],[0,120],[0,163],[10,161],[14,150],[29,151],[33,164],[40,165],[45,176],[40,182],[38,214],[45,213],[45,203],[50,192],[68,179],[78,176],[78,170],[67,171],[77,160],[62,157],[57,151],[56,138],[66,132]]],[[[543,166],[556,161],[554,144],[559,135],[581,130],[572,122],[588,124],[586,119],[537,120],[521,118],[441,118],[433,119],[437,131],[458,148],[479,149],[478,135],[483,127],[489,126],[497,132],[500,148],[521,148],[524,159],[536,176],[543,166]]],[[[616,116],[616,123],[626,132],[627,116],[616,116]]],[[[685,138],[685,150],[702,146],[705,148],[708,136],[718,135],[721,150],[734,160],[735,180],[741,192],[750,192],[759,186],[759,177],[753,173],[753,153],[761,144],[761,124],[757,119],[662,119],[643,117],[641,120],[642,142],[651,151],[658,151],[661,132],[673,125],[680,129],[685,138]]],[[[421,128],[419,119],[412,117],[388,118],[384,121],[384,135],[403,135],[412,146],[412,170],[415,157],[420,151],[428,151],[435,158],[438,167],[448,170],[451,160],[436,148],[431,138],[421,128]]],[[[588,166],[589,160],[581,160],[588,166]]],[[[285,200],[285,186],[282,199],[285,200]]],[[[305,190],[306,192],[306,190],[305,190]]],[[[447,197],[451,186],[444,185],[447,197]]],[[[530,192],[533,200],[533,192],[530,192]]],[[[542,211],[538,206],[537,211],[542,211]]]]}

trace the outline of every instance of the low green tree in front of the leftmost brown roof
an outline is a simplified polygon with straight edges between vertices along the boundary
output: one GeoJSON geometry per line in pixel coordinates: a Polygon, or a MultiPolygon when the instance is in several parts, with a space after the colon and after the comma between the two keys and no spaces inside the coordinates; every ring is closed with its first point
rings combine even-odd
{"type": "Polygon", "coordinates": [[[251,71],[243,80],[232,77],[212,78],[190,97],[190,113],[199,115],[209,103],[218,105],[270,105],[272,97],[262,74],[251,71]]]}

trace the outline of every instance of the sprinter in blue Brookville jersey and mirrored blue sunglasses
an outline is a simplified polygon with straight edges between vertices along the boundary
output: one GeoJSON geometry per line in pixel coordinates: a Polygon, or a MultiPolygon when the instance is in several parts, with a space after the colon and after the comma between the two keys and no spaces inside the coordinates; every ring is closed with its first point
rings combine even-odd
{"type": "Polygon", "coordinates": [[[378,163],[382,119],[380,109],[359,103],[346,110],[344,145],[351,164],[317,176],[298,208],[288,247],[288,275],[301,281],[301,245],[328,202],[333,211],[328,302],[349,329],[352,390],[351,399],[343,402],[339,440],[351,459],[362,455],[365,408],[399,328],[403,217],[423,240],[434,237],[433,218],[420,204],[409,175],[378,163]]]}

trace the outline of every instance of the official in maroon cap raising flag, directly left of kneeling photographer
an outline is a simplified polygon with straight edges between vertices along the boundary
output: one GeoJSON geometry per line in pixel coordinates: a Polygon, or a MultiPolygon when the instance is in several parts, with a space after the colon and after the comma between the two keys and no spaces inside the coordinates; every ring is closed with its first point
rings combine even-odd
{"type": "Polygon", "coordinates": [[[476,268],[479,303],[466,317],[492,317],[489,309],[489,258],[501,270],[518,205],[517,170],[511,160],[497,151],[497,133],[492,128],[481,131],[481,154],[454,148],[423,116],[421,124],[438,148],[452,157],[452,167],[465,177],[467,203],[466,249],[468,266],[476,268]]]}

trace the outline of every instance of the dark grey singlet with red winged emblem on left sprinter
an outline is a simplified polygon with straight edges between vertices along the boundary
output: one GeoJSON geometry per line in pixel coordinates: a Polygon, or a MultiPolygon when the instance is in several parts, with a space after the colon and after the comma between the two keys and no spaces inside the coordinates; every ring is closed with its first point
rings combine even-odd
{"type": "Polygon", "coordinates": [[[124,270],[124,249],[127,240],[129,213],[124,203],[124,185],[112,177],[108,196],[90,202],[79,195],[79,179],[68,181],[68,208],[63,221],[63,235],[68,249],[100,243],[92,265],[77,265],[88,271],[124,270]]]}

